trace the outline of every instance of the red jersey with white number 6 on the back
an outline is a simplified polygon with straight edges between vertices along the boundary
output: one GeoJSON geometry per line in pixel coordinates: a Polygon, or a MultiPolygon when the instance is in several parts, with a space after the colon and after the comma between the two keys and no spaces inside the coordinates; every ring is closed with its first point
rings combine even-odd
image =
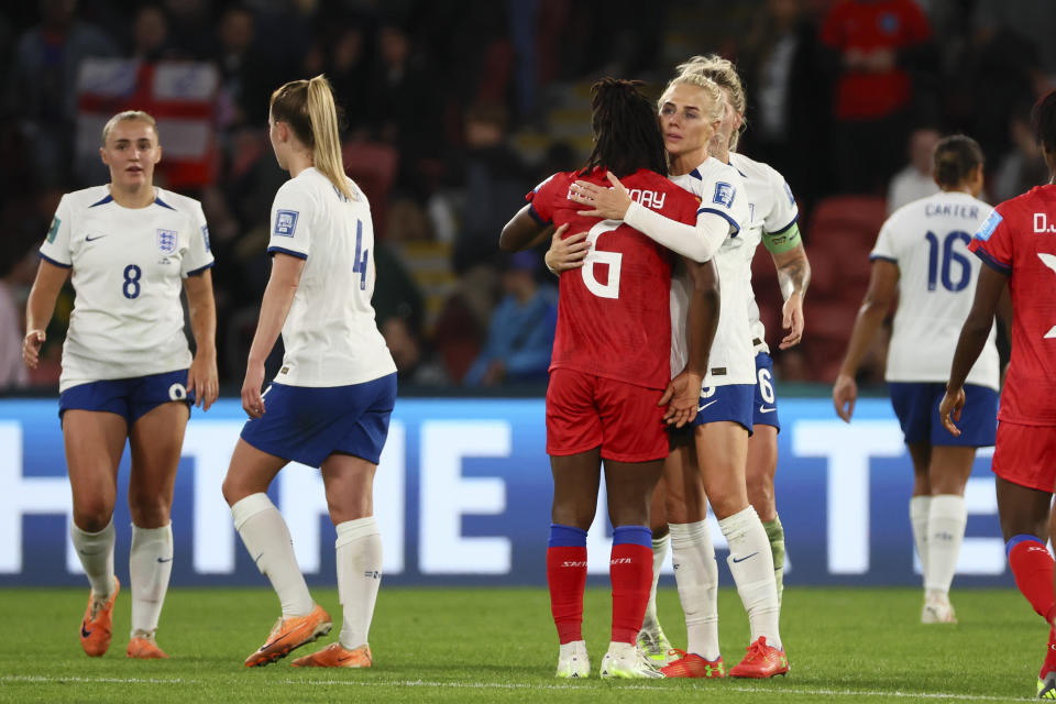
{"type": "MultiPolygon", "coordinates": [[[[592,243],[583,266],[561,274],[550,369],[664,388],[671,380],[673,254],[620,220],[576,215],[586,209],[569,200],[569,187],[578,178],[608,186],[603,169],[585,177],[563,172],[527,196],[536,220],[568,222],[565,237],[588,231],[592,243]]],[[[663,176],[639,169],[620,180],[642,206],[679,222],[696,222],[696,197],[663,176]]]]}

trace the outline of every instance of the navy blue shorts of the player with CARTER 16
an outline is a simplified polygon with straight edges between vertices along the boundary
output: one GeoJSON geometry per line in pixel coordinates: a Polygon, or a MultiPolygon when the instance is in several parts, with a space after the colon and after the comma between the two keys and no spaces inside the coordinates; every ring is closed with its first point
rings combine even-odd
{"type": "Polygon", "coordinates": [[[998,392],[987,386],[965,384],[965,409],[961,411],[960,437],[943,427],[938,405],[946,395],[945,384],[891,382],[888,384],[891,406],[902,425],[906,443],[928,442],[937,446],[987,448],[998,433],[998,392]]]}

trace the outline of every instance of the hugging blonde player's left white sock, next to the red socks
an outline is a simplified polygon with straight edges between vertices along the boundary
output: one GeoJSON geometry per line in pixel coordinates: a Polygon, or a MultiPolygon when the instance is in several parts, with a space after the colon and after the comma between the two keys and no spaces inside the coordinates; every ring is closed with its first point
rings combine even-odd
{"type": "Polygon", "coordinates": [[[705,660],[717,660],[718,564],[711,530],[706,520],[671,524],[670,529],[674,580],[685,613],[685,650],[705,660]]]}

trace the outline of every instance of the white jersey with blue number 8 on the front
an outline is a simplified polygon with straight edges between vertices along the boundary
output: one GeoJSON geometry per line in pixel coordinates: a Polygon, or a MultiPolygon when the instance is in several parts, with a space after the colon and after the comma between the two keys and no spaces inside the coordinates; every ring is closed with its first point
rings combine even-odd
{"type": "Polygon", "coordinates": [[[66,194],[41,256],[72,268],[76,296],[58,388],[190,366],[183,277],[212,266],[201,204],[155,188],[124,208],[109,186],[66,194]]]}

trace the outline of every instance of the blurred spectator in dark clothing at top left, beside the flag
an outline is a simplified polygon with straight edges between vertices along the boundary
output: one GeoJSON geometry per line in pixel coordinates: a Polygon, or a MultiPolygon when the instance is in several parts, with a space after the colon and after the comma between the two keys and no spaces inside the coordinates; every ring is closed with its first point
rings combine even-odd
{"type": "Polygon", "coordinates": [[[74,152],[77,70],[88,56],[117,56],[100,30],[77,20],[76,0],[40,0],[41,24],[25,32],[8,80],[8,106],[38,185],[63,187],[74,152]]]}

